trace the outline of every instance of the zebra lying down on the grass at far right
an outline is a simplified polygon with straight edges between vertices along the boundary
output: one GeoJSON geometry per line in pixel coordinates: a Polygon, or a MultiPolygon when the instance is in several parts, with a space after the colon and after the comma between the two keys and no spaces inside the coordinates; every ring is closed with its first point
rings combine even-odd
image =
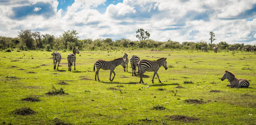
{"type": "Polygon", "coordinates": [[[228,81],[230,82],[230,84],[227,85],[230,87],[240,88],[240,87],[249,87],[250,85],[248,80],[236,78],[235,75],[228,70],[225,70],[225,73],[221,78],[222,81],[225,79],[228,79],[228,81]]]}

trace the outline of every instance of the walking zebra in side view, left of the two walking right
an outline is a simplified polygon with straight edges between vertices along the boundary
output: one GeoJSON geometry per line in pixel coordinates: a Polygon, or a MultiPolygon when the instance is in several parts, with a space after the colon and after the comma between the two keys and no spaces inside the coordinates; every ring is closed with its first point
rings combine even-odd
{"type": "Polygon", "coordinates": [[[114,60],[111,60],[111,61],[97,60],[94,63],[94,67],[93,67],[93,72],[95,71],[95,66],[97,68],[97,71],[95,72],[95,81],[97,81],[96,76],[98,76],[98,80],[100,81],[100,79],[99,79],[99,70],[102,69],[102,70],[110,70],[109,80],[112,82],[115,78],[115,72],[114,72],[115,67],[117,67],[118,65],[122,65],[124,70],[125,70],[125,59],[123,57],[120,57],[120,58],[117,58],[117,59],[114,59],[114,60]],[[111,80],[112,72],[114,73],[114,77],[111,80]]]}

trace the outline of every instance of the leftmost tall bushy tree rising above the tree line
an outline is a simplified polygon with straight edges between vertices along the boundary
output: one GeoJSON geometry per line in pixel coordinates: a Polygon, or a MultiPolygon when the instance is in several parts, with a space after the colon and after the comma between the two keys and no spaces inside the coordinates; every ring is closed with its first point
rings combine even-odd
{"type": "Polygon", "coordinates": [[[34,48],[34,43],[33,43],[33,34],[31,30],[21,30],[18,34],[18,37],[20,40],[26,44],[26,47],[28,49],[33,49],[34,48]]]}

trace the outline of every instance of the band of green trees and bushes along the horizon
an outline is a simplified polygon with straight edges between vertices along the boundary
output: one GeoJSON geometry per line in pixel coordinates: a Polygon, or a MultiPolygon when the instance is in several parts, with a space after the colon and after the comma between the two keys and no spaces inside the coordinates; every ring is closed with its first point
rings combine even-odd
{"type": "MultiPolygon", "coordinates": [[[[141,31],[138,29],[137,33],[141,31]]],[[[228,44],[227,42],[219,42],[217,44],[206,41],[199,42],[176,42],[167,40],[164,42],[146,39],[150,36],[148,32],[143,37],[136,36],[140,40],[118,39],[83,39],[80,40],[76,30],[67,30],[60,36],[49,34],[41,34],[40,32],[33,32],[31,30],[21,30],[18,32],[18,37],[4,37],[0,36],[0,50],[18,48],[20,50],[72,50],[72,47],[79,47],[79,50],[201,50],[201,47],[207,47],[212,50],[212,47],[219,47],[219,50],[228,50],[230,47],[255,47],[255,45],[228,44]]],[[[213,34],[214,35],[214,34],[213,34]]]]}

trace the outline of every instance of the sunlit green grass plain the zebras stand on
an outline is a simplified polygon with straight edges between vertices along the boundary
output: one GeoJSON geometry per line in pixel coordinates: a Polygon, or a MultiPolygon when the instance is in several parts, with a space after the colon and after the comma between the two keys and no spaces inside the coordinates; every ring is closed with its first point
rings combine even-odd
{"type": "Polygon", "coordinates": [[[0,52],[0,123],[256,123],[255,53],[80,51],[77,54],[76,70],[72,65],[72,72],[69,72],[67,55],[71,51],[59,52],[62,55],[59,70],[53,69],[51,52],[0,52]],[[110,70],[100,70],[100,82],[95,81],[93,65],[96,60],[113,60],[122,57],[124,53],[128,53],[129,57],[138,55],[141,59],[148,60],[167,57],[168,70],[161,67],[158,71],[163,84],[159,83],[157,77],[152,84],[153,72],[144,73],[143,81],[147,85],[139,84],[138,74],[137,77],[131,75],[130,64],[128,72],[124,72],[122,66],[116,67],[113,82],[109,80],[110,70]],[[249,80],[249,88],[227,87],[228,80],[220,80],[225,70],[233,72],[238,78],[249,80]],[[63,85],[64,83],[67,84],[63,85]],[[56,91],[68,94],[46,95],[55,90],[52,85],[56,91]],[[210,92],[211,90],[220,92],[210,92]],[[38,97],[40,101],[22,101],[30,95],[38,97]],[[203,103],[195,104],[186,100],[203,103]],[[20,110],[20,107],[29,108],[34,113],[26,116],[13,113],[15,109],[20,110]],[[165,109],[152,110],[154,107],[165,109]],[[60,120],[56,122],[54,117],[60,120]]]}

